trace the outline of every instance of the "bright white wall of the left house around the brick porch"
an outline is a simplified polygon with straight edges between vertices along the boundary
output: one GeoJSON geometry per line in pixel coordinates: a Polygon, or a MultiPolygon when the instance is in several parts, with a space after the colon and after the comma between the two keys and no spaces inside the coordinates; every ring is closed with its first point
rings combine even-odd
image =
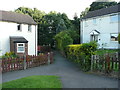
{"type": "Polygon", "coordinates": [[[0,54],[10,52],[10,36],[23,36],[28,40],[28,55],[35,55],[35,39],[36,39],[36,54],[37,54],[37,34],[35,38],[35,27],[37,33],[37,26],[32,25],[32,31],[28,31],[28,25],[22,24],[22,31],[17,30],[17,23],[0,21],[0,54]]]}

